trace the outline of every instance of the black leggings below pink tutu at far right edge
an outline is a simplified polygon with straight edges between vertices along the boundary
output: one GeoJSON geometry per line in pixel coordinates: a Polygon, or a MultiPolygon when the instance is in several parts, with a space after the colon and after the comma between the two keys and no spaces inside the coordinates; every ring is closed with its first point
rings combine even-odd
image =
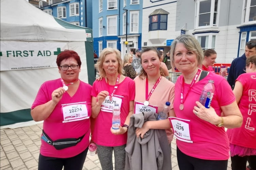
{"type": "Polygon", "coordinates": [[[251,156],[231,156],[231,168],[232,170],[245,170],[246,163],[249,162],[249,166],[252,170],[256,170],[256,155],[251,156]]]}

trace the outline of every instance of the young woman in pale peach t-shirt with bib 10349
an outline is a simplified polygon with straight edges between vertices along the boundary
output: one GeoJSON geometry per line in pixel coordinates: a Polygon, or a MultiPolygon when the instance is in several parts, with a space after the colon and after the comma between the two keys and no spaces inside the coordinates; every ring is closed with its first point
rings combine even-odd
{"type": "MultiPolygon", "coordinates": [[[[161,74],[160,53],[155,48],[146,48],[141,53],[142,72],[134,79],[135,82],[135,103],[134,113],[140,113],[141,108],[159,113],[163,110],[165,102],[169,101],[169,116],[174,115],[174,83],[168,81],[161,74]]],[[[142,138],[149,129],[165,129],[170,144],[173,139],[171,124],[168,119],[159,121],[147,121],[142,128],[137,128],[136,135],[142,138]]],[[[171,169],[172,167],[170,167],[171,169]]]]}

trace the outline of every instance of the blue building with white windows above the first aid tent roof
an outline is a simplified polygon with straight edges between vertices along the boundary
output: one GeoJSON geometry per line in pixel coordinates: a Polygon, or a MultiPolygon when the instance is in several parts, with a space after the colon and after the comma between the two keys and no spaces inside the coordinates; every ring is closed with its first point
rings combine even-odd
{"type": "Polygon", "coordinates": [[[39,9],[77,26],[92,28],[92,0],[39,1],[39,9]]]}

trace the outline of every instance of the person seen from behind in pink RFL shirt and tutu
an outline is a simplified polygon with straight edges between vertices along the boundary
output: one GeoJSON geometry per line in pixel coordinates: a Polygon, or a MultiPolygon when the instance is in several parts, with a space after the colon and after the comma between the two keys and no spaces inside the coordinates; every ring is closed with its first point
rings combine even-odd
{"type": "Polygon", "coordinates": [[[247,161],[247,169],[256,170],[256,55],[246,59],[245,68],[246,73],[238,76],[233,90],[243,124],[227,130],[232,170],[246,169],[247,161]]]}

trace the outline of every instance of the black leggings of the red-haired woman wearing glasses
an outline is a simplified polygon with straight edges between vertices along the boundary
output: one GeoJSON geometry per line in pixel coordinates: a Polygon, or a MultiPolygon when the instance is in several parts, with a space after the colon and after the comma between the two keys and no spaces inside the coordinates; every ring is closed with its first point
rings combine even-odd
{"type": "Polygon", "coordinates": [[[82,170],[88,147],[80,154],[70,158],[55,158],[39,154],[38,170],[82,170]]]}

